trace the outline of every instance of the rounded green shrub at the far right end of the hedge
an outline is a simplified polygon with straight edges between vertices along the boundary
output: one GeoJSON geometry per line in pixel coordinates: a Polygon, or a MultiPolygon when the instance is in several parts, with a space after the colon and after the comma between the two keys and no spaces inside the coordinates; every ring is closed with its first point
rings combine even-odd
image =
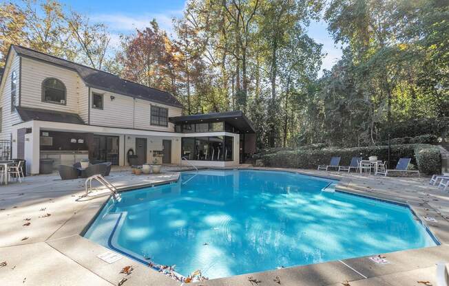
{"type": "Polygon", "coordinates": [[[418,145],[415,157],[420,172],[428,175],[441,172],[441,153],[437,146],[418,145]]]}

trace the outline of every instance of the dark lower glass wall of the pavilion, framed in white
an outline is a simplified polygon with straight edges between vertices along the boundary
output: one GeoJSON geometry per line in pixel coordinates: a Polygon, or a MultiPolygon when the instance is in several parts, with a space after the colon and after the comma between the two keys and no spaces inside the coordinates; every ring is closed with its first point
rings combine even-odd
{"type": "Polygon", "coordinates": [[[232,161],[233,137],[181,138],[181,156],[199,161],[232,161]]]}

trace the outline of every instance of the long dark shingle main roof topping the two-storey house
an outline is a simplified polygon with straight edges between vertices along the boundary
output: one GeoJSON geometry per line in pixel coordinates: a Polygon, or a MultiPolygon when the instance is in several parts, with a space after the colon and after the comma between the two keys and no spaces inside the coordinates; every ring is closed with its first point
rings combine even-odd
{"type": "Polygon", "coordinates": [[[14,50],[20,56],[35,58],[61,67],[67,67],[68,69],[78,72],[85,84],[90,87],[182,108],[182,104],[167,91],[139,85],[138,83],[119,78],[114,74],[109,74],[108,72],[103,72],[98,69],[92,69],[92,67],[86,67],[85,65],[79,65],[64,60],[63,58],[57,58],[56,56],[37,52],[27,47],[21,47],[19,45],[12,45],[12,47],[14,47],[14,50]]]}

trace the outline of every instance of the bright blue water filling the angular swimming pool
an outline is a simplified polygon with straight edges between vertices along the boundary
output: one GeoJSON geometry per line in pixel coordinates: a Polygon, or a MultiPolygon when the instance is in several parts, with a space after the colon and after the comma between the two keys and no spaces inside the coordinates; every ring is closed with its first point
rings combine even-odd
{"type": "Polygon", "coordinates": [[[332,183],[262,170],[182,173],[109,201],[85,236],[209,278],[435,245],[406,206],[322,191],[332,183]]]}

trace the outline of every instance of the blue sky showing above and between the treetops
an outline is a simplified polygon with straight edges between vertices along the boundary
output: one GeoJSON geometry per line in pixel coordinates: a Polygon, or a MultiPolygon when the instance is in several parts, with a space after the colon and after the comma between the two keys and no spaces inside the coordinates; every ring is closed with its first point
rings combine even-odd
{"type": "MultiPolygon", "coordinates": [[[[112,45],[118,43],[119,34],[132,33],[136,28],[144,28],[149,21],[156,19],[161,28],[171,32],[171,19],[180,17],[185,0],[61,0],[78,12],[87,14],[93,21],[108,25],[113,33],[112,45]]],[[[336,47],[326,30],[326,23],[313,22],[309,27],[309,36],[323,44],[327,54],[322,69],[330,69],[342,56],[340,47],[336,47]]]]}

